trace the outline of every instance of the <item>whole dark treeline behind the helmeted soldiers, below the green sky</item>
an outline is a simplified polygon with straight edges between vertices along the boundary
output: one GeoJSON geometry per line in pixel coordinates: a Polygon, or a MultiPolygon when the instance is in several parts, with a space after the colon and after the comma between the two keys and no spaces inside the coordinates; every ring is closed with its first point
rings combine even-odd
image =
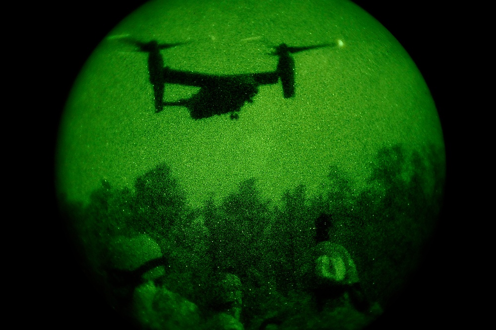
{"type": "Polygon", "coordinates": [[[382,149],[367,187],[358,193],[332,167],[318,198],[306,197],[305,187],[297,186],[276,206],[260,197],[250,179],[221,203],[208,200],[197,210],[186,207],[184,192],[161,165],[138,177],[134,192],[102,181],[89,205],[66,209],[77,219],[89,266],[104,282],[112,238],[146,233],[169,266],[161,283],[200,310],[216,306],[221,274],[236,274],[248,326],[309,294],[312,248],[324,240],[352,255],[366,295],[360,299],[386,302],[415,268],[433,229],[444,182],[440,154],[433,148],[411,154],[401,146],[382,149]]]}

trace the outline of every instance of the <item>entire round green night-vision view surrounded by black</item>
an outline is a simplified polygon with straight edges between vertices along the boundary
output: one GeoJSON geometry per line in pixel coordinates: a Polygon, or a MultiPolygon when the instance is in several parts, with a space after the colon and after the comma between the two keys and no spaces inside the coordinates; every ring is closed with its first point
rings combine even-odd
{"type": "Polygon", "coordinates": [[[346,0],[151,1],[81,70],[57,188],[142,329],[363,329],[418,266],[444,143],[410,56],[346,0]]]}

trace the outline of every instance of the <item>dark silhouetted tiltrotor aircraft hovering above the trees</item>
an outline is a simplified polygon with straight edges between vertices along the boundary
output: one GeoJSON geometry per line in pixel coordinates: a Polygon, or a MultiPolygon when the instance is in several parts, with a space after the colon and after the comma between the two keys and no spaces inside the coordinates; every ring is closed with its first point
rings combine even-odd
{"type": "Polygon", "coordinates": [[[157,41],[147,43],[133,41],[140,52],[148,53],[148,72],[153,86],[155,111],[160,112],[164,107],[186,107],[191,118],[202,119],[214,114],[231,113],[231,119],[238,119],[238,113],[246,102],[253,102],[258,93],[258,86],[282,83],[284,98],[295,95],[295,61],[291,54],[308,51],[321,47],[333,46],[323,44],[306,47],[289,47],[280,44],[275,47],[279,60],[274,71],[258,73],[242,73],[215,75],[176,70],[164,66],[161,50],[177,47],[182,44],[159,44],[157,41]],[[165,84],[179,84],[199,87],[199,91],[188,99],[174,102],[164,101],[165,84]]]}

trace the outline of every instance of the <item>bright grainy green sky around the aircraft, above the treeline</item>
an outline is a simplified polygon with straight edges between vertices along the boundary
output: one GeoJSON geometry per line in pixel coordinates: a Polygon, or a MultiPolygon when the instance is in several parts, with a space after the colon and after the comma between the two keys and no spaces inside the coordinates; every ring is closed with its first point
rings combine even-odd
{"type": "MultiPolygon", "coordinates": [[[[127,17],[90,57],[61,124],[58,185],[86,201],[105,178],[132,187],[171,166],[192,206],[256,177],[266,198],[306,184],[318,192],[330,165],[367,178],[377,150],[398,143],[442,147],[434,102],[413,61],[389,32],[347,1],[152,1],[127,17]],[[155,113],[147,54],[124,42],[184,45],[166,65],[208,74],[273,71],[281,43],[342,42],[294,54],[296,95],[259,87],[239,112],[193,120],[184,107],[155,113]]],[[[166,85],[166,101],[196,88],[166,85]]],[[[360,188],[360,187],[358,187],[360,188]]]]}

